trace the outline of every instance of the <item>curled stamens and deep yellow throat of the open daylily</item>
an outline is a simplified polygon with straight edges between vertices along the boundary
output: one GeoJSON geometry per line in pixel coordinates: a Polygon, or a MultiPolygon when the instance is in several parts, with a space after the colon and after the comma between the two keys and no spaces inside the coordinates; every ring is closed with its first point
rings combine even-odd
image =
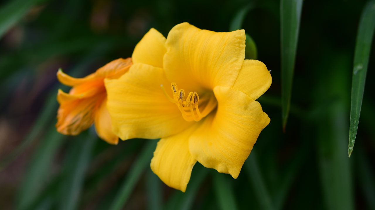
{"type": "Polygon", "coordinates": [[[173,98],[171,98],[162,84],[160,87],[163,89],[166,98],[177,105],[178,109],[181,111],[182,117],[186,121],[202,120],[202,118],[210,114],[210,112],[216,108],[217,101],[213,93],[207,93],[199,100],[198,93],[190,92],[185,98],[185,90],[178,89],[176,83],[172,82],[171,89],[173,98]],[[202,111],[199,111],[199,109],[202,111]]]}

